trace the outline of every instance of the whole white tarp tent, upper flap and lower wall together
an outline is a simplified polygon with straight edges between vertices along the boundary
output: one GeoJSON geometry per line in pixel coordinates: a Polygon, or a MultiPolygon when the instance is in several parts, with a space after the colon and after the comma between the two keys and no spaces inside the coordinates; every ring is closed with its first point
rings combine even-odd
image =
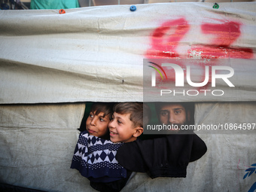
{"type": "MultiPolygon", "coordinates": [[[[195,123],[256,123],[256,3],[219,5],[0,11],[0,183],[94,191],[69,169],[84,102],[142,102],[145,58],[242,59],[237,96],[181,100],[197,102],[195,123]],[[166,23],[174,28],[164,31],[166,23]]],[[[197,134],[208,151],[187,178],[137,173],[123,191],[248,191],[254,134],[197,134]]]]}

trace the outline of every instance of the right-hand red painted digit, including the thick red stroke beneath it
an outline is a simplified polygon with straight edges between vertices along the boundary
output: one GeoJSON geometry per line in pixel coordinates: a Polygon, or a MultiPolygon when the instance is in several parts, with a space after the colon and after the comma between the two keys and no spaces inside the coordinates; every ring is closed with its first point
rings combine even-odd
{"type": "Polygon", "coordinates": [[[209,45],[192,45],[187,53],[190,57],[194,54],[202,59],[251,59],[253,50],[245,47],[234,47],[232,44],[241,35],[240,23],[222,21],[221,24],[204,23],[201,30],[205,35],[213,35],[209,45]]]}

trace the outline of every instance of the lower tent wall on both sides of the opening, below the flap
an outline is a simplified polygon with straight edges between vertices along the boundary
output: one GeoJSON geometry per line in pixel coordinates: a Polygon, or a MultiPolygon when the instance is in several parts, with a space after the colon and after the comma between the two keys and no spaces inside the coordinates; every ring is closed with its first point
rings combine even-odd
{"type": "MultiPolygon", "coordinates": [[[[87,178],[70,169],[84,104],[0,108],[1,183],[54,192],[95,191],[87,178]]],[[[255,117],[254,111],[254,102],[200,102],[195,123],[246,122],[255,117]]],[[[256,163],[254,134],[196,133],[208,150],[188,164],[186,178],[151,179],[136,172],[122,191],[248,191],[256,181],[254,173],[243,179],[256,163]]]]}

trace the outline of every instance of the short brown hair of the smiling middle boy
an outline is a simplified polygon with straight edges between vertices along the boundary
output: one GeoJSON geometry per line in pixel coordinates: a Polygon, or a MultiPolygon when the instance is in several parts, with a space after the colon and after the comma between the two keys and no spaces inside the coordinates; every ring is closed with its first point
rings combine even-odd
{"type": "Polygon", "coordinates": [[[151,115],[148,105],[142,102],[120,102],[114,105],[113,111],[117,114],[130,114],[130,120],[133,122],[134,127],[143,127],[143,121],[145,124],[148,123],[151,115]]]}

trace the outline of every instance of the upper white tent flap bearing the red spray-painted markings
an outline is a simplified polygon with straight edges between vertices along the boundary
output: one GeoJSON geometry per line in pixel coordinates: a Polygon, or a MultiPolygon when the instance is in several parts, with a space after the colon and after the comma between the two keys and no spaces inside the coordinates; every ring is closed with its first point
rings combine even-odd
{"type": "Polygon", "coordinates": [[[0,103],[142,102],[143,59],[161,56],[242,59],[228,64],[235,87],[227,96],[173,101],[254,101],[256,3],[219,5],[1,11],[0,103]]]}

